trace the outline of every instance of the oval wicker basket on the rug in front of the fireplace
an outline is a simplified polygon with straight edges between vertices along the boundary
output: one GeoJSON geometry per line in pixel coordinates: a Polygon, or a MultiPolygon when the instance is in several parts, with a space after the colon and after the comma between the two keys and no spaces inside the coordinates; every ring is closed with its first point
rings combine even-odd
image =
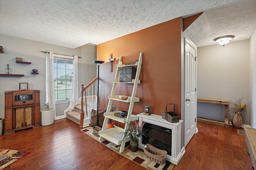
{"type": "Polygon", "coordinates": [[[144,149],[146,158],[153,160],[158,164],[166,163],[166,156],[167,156],[166,150],[157,149],[148,143],[144,145],[143,149],[144,149]]]}

